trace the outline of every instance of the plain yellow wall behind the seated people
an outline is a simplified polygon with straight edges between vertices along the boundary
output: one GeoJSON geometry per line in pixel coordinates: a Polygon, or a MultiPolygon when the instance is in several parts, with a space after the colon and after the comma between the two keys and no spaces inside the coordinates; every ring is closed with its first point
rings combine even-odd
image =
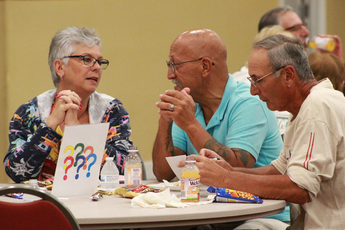
{"type": "MultiPolygon", "coordinates": [[[[166,78],[171,42],[188,29],[214,30],[226,43],[228,69],[233,73],[247,60],[259,18],[277,6],[276,0],[0,1],[0,160],[8,148],[8,123],[14,111],[53,88],[47,60],[57,30],[67,26],[99,30],[102,55],[110,64],[97,91],[122,101],[130,114],[131,138],[144,160],[150,160],[159,118],[155,103],[159,94],[174,86],[166,78]]],[[[334,10],[344,23],[341,9],[334,10]]],[[[344,24],[333,33],[339,28],[344,24]]],[[[8,181],[0,167],[0,183],[8,181]]]]}

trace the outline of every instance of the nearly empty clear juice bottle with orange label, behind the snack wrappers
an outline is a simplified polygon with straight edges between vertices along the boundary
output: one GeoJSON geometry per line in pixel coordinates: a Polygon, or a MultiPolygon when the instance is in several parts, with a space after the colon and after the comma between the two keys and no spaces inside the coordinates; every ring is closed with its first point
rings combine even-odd
{"type": "Polygon", "coordinates": [[[142,164],[137,147],[129,147],[125,159],[125,185],[142,184],[142,164]]]}

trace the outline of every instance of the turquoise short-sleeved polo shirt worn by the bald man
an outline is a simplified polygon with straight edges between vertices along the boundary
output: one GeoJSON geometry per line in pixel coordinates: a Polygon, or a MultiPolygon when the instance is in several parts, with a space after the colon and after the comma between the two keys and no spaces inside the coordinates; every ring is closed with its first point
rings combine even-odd
{"type": "MultiPolygon", "coordinates": [[[[225,87],[220,105],[205,124],[203,109],[197,103],[195,116],[205,130],[219,143],[229,148],[239,148],[252,154],[256,160],[254,167],[269,165],[278,158],[283,149],[277,119],[266,103],[258,96],[250,94],[250,87],[243,82],[236,82],[231,74],[225,87]]],[[[172,141],[175,147],[187,155],[199,154],[185,131],[175,122],[172,125],[172,141]]],[[[231,189],[231,188],[229,188],[231,189]]],[[[289,221],[289,209],[270,218],[289,221]],[[275,217],[279,215],[278,217],[275,217]]]]}

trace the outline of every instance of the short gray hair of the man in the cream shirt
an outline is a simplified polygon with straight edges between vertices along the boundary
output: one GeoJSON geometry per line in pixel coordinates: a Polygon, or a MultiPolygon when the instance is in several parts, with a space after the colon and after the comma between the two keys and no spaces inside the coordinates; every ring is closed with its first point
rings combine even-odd
{"type": "MultiPolygon", "coordinates": [[[[291,65],[295,68],[299,79],[303,82],[309,82],[314,79],[307,53],[299,38],[291,38],[285,35],[270,36],[253,46],[253,49],[260,48],[267,50],[267,57],[272,71],[282,66],[291,65]]],[[[281,71],[276,71],[274,77],[280,76],[281,71]]]]}

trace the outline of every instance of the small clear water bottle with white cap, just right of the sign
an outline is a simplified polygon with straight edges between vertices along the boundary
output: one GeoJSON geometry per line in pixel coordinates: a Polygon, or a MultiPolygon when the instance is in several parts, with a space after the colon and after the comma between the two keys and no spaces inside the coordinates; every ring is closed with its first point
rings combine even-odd
{"type": "Polygon", "coordinates": [[[114,157],[106,157],[106,163],[101,170],[101,188],[118,189],[120,188],[119,170],[114,163],[114,157]]]}

